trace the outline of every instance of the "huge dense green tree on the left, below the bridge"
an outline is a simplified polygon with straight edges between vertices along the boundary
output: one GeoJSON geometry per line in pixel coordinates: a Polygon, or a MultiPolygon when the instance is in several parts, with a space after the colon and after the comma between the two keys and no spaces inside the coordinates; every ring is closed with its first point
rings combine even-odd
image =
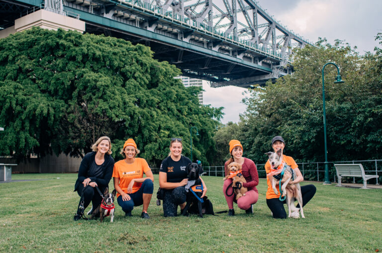
{"type": "Polygon", "coordinates": [[[199,105],[200,88],[185,88],[181,74],[153,59],[143,45],[75,31],[33,28],[0,40],[0,154],[23,157],[65,152],[82,155],[107,135],[118,157],[134,138],[152,165],[168,154],[171,137],[184,138],[194,159],[207,150],[221,108],[199,105]]]}

